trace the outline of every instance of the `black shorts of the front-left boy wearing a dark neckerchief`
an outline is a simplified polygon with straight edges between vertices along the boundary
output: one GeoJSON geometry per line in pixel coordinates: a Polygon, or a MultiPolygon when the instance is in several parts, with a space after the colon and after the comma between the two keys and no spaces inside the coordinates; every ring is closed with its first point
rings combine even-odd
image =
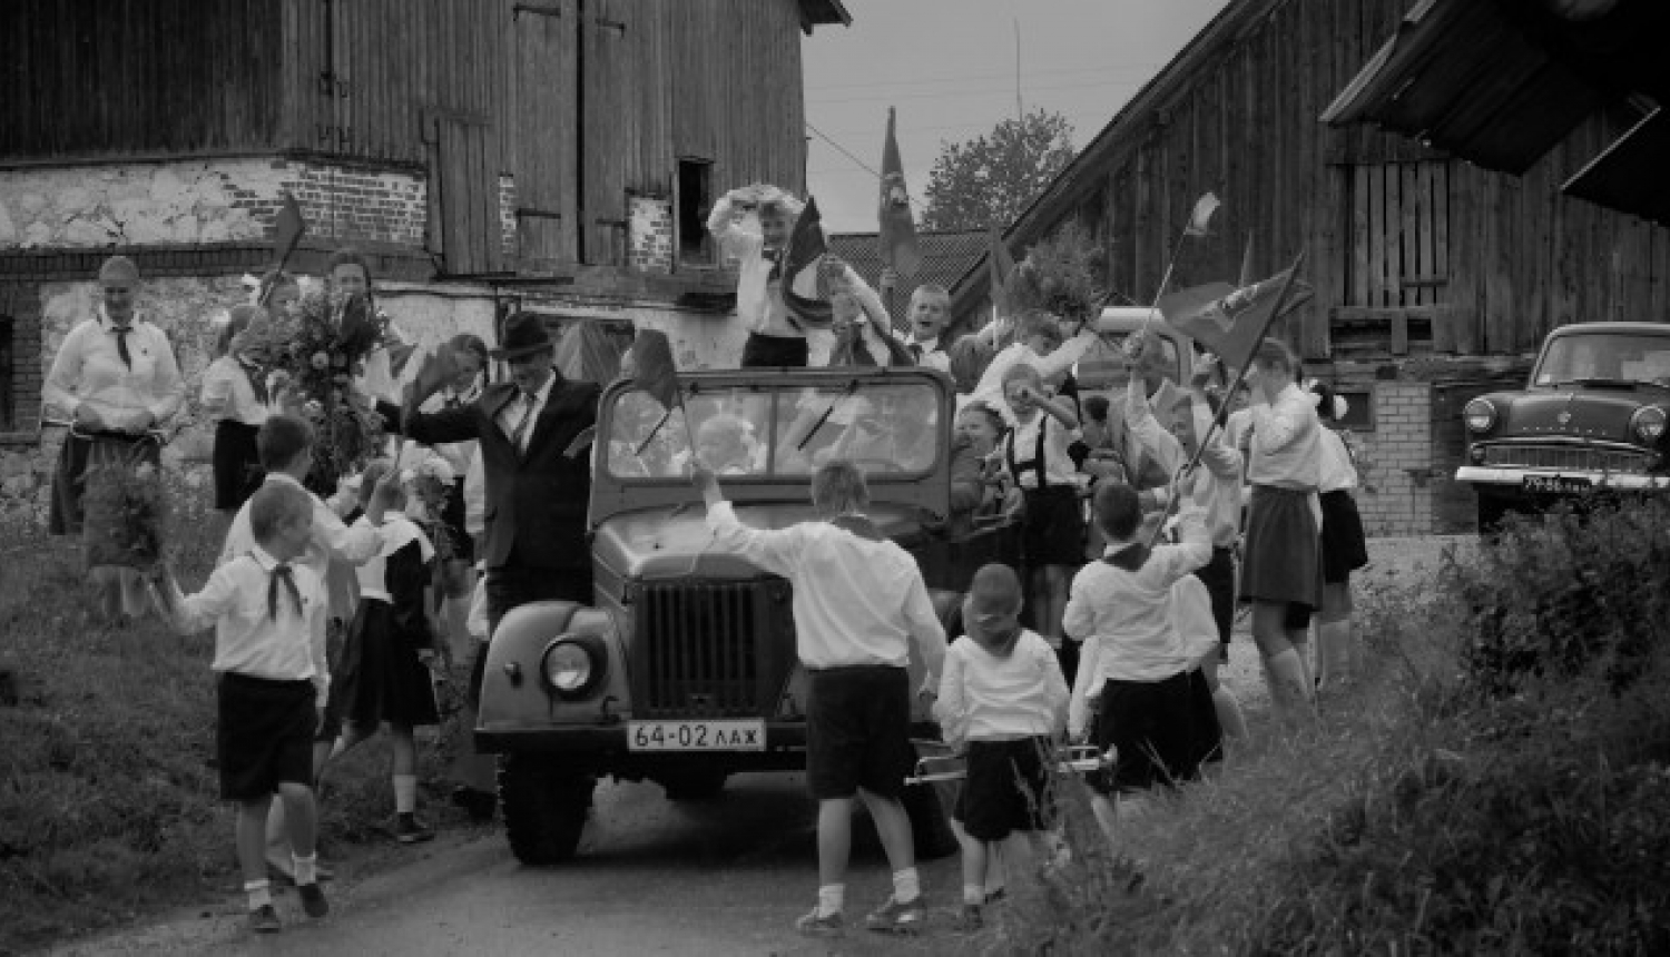
{"type": "Polygon", "coordinates": [[[314,701],[312,681],[220,675],[215,757],[222,798],[267,797],[281,783],[312,787],[312,742],[319,720],[314,701]]]}

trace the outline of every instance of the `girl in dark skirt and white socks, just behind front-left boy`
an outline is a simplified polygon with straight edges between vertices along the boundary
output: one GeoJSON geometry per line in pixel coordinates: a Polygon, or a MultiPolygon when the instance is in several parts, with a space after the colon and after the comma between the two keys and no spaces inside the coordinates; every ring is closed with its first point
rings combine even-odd
{"type": "MultiPolygon", "coordinates": [[[[366,466],[361,478],[361,506],[389,471],[389,463],[366,466]]],[[[396,508],[404,508],[404,503],[396,508]]],[[[361,518],[356,524],[369,519],[361,518]]],[[[439,723],[431,680],[436,636],[428,616],[428,586],[434,546],[404,514],[389,511],[384,519],[389,544],[382,554],[361,565],[359,606],[342,645],[342,656],[331,678],[331,713],[342,722],[342,737],[331,757],[389,728],[392,738],[394,835],[401,843],[434,837],[418,820],[418,747],[412,728],[439,723]]]]}

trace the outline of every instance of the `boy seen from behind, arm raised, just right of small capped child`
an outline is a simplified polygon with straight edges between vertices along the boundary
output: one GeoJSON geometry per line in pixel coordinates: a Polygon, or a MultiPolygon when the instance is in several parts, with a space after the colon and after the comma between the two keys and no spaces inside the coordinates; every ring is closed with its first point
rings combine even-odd
{"type": "Polygon", "coordinates": [[[1101,561],[1072,581],[1062,628],[1084,641],[1067,710],[1072,737],[1092,733],[1096,747],[1117,748],[1111,775],[1092,778],[1091,805],[1109,840],[1114,798],[1154,785],[1174,785],[1199,772],[1191,671],[1199,655],[1177,631],[1172,585],[1206,565],[1212,538],[1191,496],[1179,511],[1179,544],[1149,549],[1136,489],[1104,483],[1096,489],[1096,521],[1107,538],[1101,561]],[[1101,686],[1096,727],[1091,700],[1101,686]]]}

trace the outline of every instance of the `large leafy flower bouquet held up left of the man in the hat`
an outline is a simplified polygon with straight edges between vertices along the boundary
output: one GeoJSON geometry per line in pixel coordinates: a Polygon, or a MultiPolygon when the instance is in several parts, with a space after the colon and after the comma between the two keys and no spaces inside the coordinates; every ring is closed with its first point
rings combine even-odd
{"type": "Polygon", "coordinates": [[[366,357],[382,341],[386,321],[364,296],[332,304],[322,294],[302,299],[294,322],[277,327],[272,349],[286,404],[299,406],[316,431],[312,481],[332,488],[357,473],[382,444],[382,418],[354,384],[366,357]]]}

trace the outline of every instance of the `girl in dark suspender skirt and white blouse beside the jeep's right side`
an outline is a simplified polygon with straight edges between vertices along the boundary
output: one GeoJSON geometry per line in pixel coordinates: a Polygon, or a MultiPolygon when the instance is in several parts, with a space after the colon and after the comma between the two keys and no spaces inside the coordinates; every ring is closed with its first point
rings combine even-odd
{"type": "Polygon", "coordinates": [[[1004,464],[1010,488],[1020,491],[1020,558],[1027,568],[1027,606],[1032,628],[1057,655],[1072,681],[1079,650],[1062,638],[1060,615],[1067,583],[1084,561],[1084,518],[1079,499],[1086,479],[1069,453],[1079,438],[1079,419],[1069,403],[1044,394],[1039,371],[1027,364],[1004,372],[1004,399],[1015,428],[1004,439],[1004,464]]]}

